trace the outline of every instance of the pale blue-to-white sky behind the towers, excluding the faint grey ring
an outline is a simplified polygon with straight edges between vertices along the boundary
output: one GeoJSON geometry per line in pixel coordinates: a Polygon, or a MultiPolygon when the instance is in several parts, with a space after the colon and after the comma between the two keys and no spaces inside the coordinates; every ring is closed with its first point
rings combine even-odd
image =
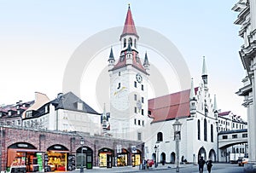
{"type": "MultiPolygon", "coordinates": [[[[231,10],[236,2],[0,0],[0,104],[31,101],[35,91],[54,99],[62,91],[67,62],[79,45],[97,32],[123,26],[127,4],[131,3],[135,25],[159,32],[172,41],[189,66],[195,86],[201,82],[202,56],[205,56],[209,92],[212,99],[217,95],[218,108],[247,118],[246,109],[241,106],[243,98],[235,94],[246,74],[238,54],[242,44],[239,26],[233,24],[237,14],[231,10]]],[[[114,49],[117,58],[119,47],[114,49]]],[[[148,52],[149,62],[150,55],[156,54],[145,47],[138,49],[141,57],[148,52]]],[[[103,68],[104,63],[108,66],[108,55],[109,49],[100,52],[94,60],[102,64],[91,62],[87,70],[92,66],[103,68]]],[[[153,63],[161,66],[157,61],[153,63]]],[[[84,72],[81,97],[102,112],[102,102],[96,101],[95,94],[90,95],[96,84],[86,82],[98,78],[98,74],[88,72],[84,72]]],[[[168,72],[162,73],[169,83],[168,72]]],[[[173,88],[171,92],[176,91],[173,88]]]]}

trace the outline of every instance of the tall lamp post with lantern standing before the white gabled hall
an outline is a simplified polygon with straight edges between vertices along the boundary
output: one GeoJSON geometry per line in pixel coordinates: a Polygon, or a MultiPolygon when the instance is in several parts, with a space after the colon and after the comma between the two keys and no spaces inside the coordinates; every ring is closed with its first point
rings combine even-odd
{"type": "Polygon", "coordinates": [[[176,167],[176,172],[179,172],[179,141],[181,140],[180,138],[180,130],[182,124],[176,119],[175,123],[172,124],[173,130],[174,130],[174,141],[176,141],[176,162],[177,162],[177,167],[176,167]]]}

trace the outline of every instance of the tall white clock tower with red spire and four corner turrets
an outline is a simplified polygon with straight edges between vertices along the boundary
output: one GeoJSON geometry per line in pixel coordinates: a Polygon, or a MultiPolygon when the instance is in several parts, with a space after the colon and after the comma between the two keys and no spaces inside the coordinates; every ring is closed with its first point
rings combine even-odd
{"type": "Polygon", "coordinates": [[[143,131],[149,120],[149,63],[147,53],[144,60],[139,57],[138,39],[129,5],[119,39],[119,59],[115,63],[112,48],[108,58],[111,113],[109,123],[113,137],[143,141],[143,131]]]}

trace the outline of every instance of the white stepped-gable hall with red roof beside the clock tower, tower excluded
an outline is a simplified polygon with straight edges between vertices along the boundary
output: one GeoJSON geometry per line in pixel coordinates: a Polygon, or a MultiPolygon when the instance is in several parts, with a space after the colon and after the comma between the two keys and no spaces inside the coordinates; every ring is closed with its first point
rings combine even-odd
{"type": "MultiPolygon", "coordinates": [[[[154,118],[147,130],[146,157],[157,162],[175,163],[176,144],[172,124],[182,123],[179,162],[197,163],[199,157],[217,161],[217,106],[207,87],[207,69],[203,61],[202,83],[194,88],[148,101],[148,111],[154,118]]],[[[216,101],[215,101],[216,104],[216,101]]]]}

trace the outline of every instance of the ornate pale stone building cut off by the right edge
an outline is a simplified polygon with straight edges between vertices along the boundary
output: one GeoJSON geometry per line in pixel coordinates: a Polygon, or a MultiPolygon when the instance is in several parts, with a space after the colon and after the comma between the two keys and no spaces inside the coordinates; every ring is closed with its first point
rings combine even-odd
{"type": "Polygon", "coordinates": [[[240,0],[232,10],[239,13],[235,21],[236,25],[241,26],[239,36],[243,39],[239,54],[247,72],[242,79],[243,87],[236,94],[244,96],[242,105],[247,107],[248,158],[256,162],[256,1],[240,0]]]}

